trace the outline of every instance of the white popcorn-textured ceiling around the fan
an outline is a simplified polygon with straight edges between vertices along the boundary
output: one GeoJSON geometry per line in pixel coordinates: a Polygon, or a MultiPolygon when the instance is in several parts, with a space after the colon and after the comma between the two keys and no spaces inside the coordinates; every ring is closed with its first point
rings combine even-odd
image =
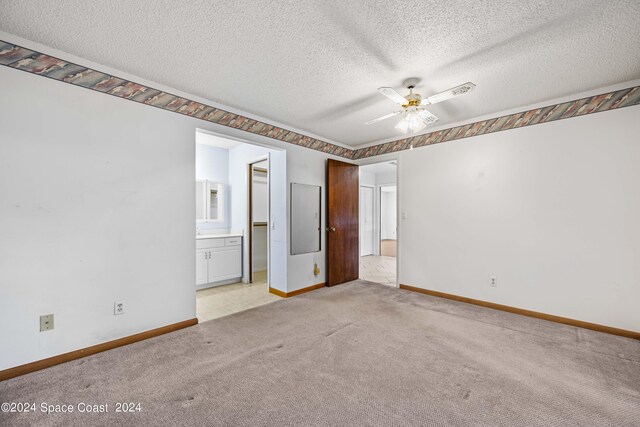
{"type": "MultiPolygon", "coordinates": [[[[400,138],[379,86],[438,126],[640,78],[640,2],[0,1],[0,30],[357,146],[400,138]]],[[[428,132],[429,128],[425,129],[428,132]]]]}

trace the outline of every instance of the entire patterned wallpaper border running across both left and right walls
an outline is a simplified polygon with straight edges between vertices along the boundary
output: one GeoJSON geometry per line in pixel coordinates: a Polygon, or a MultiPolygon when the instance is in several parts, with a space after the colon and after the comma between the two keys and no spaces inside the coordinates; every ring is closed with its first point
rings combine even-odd
{"type": "Polygon", "coordinates": [[[0,65],[353,160],[640,104],[635,86],[351,150],[2,40],[0,65]]]}

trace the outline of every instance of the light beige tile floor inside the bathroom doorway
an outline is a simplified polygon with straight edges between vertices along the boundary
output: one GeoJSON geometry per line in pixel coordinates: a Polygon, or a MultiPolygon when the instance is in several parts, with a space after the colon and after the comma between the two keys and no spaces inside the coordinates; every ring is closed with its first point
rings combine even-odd
{"type": "Polygon", "coordinates": [[[269,293],[267,272],[254,273],[251,284],[241,282],[216,286],[196,292],[196,314],[199,322],[248,310],[281,299],[269,293]]]}

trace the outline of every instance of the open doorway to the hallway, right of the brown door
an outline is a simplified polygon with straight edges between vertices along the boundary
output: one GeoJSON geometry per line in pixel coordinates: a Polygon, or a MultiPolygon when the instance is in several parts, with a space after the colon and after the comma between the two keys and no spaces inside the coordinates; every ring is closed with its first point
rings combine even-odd
{"type": "Polygon", "coordinates": [[[389,286],[398,285],[397,169],[395,160],[360,166],[360,278],[389,286]]]}

